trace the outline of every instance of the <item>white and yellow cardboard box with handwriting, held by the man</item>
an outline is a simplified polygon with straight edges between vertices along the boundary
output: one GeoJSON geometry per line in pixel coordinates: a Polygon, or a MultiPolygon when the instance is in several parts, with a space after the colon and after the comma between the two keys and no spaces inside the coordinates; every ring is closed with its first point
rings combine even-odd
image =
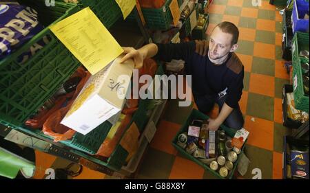
{"type": "Polygon", "coordinates": [[[86,135],[123,109],[134,61],[120,64],[122,56],[90,77],[61,124],[86,135]]]}

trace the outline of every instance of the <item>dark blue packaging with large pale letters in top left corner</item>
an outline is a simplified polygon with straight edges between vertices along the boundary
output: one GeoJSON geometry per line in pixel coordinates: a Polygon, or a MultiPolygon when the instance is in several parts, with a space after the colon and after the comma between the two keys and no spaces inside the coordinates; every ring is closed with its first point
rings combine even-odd
{"type": "MultiPolygon", "coordinates": [[[[0,5],[0,18],[0,59],[10,55],[43,30],[43,26],[38,21],[37,11],[27,6],[0,5]]],[[[41,44],[45,45],[45,42],[41,44]]],[[[38,49],[39,46],[34,45],[34,49],[20,56],[20,62],[25,61],[25,58],[29,58],[30,54],[32,55],[38,49]]]]}

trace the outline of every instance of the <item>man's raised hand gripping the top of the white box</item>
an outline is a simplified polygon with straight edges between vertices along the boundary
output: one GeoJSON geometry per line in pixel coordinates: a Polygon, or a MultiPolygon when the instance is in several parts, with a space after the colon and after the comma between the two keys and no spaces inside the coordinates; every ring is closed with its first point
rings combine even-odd
{"type": "Polygon", "coordinates": [[[123,47],[124,52],[123,54],[126,54],[123,58],[121,58],[120,63],[125,62],[125,60],[128,60],[132,58],[134,60],[134,68],[139,69],[143,66],[143,60],[144,56],[139,52],[138,50],[134,49],[133,47],[123,47]]]}

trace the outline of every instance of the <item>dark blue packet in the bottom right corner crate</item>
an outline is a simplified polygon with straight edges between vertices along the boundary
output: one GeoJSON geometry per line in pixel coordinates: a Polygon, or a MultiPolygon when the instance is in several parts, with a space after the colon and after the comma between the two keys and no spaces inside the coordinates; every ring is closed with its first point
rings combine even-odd
{"type": "Polygon", "coordinates": [[[294,177],[309,179],[309,151],[291,150],[291,174],[294,177]]]}

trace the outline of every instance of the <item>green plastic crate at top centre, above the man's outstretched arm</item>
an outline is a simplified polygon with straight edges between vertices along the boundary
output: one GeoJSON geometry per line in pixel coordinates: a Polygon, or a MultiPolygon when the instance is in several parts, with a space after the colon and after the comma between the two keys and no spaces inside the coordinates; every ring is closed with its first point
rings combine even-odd
{"type": "Polygon", "coordinates": [[[151,30],[167,30],[172,24],[172,13],[169,5],[171,0],[167,0],[165,4],[158,9],[155,8],[141,8],[145,23],[151,30]]]}

